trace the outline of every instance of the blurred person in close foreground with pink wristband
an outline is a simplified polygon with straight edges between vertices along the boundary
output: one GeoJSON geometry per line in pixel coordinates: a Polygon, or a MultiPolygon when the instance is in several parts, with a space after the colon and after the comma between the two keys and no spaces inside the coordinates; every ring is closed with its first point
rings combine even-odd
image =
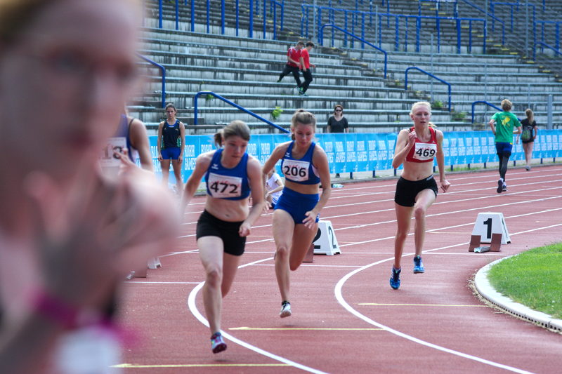
{"type": "Polygon", "coordinates": [[[121,359],[105,355],[107,305],[173,243],[162,186],[124,154],[119,180],[99,167],[133,91],[140,15],[128,0],[0,2],[2,374],[107,373],[121,359]]]}

